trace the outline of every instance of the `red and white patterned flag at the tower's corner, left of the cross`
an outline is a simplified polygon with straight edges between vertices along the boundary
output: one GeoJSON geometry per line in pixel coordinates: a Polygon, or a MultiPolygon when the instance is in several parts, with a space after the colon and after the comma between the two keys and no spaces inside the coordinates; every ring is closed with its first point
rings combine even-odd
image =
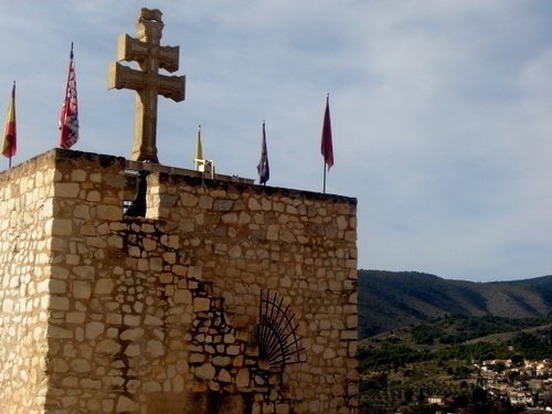
{"type": "Polygon", "coordinates": [[[60,147],[71,148],[78,141],[78,103],[76,99],[75,61],[73,60],[73,43],[71,43],[67,86],[65,100],[60,115],[60,147]]]}

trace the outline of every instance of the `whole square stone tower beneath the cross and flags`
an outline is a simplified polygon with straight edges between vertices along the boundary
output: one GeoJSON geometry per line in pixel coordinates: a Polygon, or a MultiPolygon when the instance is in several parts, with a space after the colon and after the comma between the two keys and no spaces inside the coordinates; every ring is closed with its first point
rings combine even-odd
{"type": "Polygon", "coordinates": [[[0,173],[0,412],[357,413],[355,210],[62,149],[0,173]]]}

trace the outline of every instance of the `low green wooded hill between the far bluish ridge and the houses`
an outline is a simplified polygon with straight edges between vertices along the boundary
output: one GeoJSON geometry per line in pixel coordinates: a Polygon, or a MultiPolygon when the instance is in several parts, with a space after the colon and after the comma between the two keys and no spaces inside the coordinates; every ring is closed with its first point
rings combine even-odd
{"type": "Polygon", "coordinates": [[[361,342],[360,371],[394,370],[420,361],[484,361],[552,355],[552,317],[507,319],[454,316],[361,342]],[[450,332],[456,332],[450,335],[450,332]],[[500,333],[500,335],[499,335],[500,333]],[[454,343],[449,338],[454,337],[454,343]],[[443,339],[445,339],[443,341],[443,339]]]}

